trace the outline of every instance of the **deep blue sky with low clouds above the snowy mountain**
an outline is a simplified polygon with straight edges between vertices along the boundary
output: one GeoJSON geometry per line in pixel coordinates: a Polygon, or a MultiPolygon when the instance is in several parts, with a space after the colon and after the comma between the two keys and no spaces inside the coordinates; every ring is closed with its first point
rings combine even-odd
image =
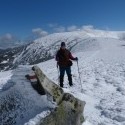
{"type": "Polygon", "coordinates": [[[0,0],[0,39],[72,31],[125,30],[125,0],[0,0]]]}

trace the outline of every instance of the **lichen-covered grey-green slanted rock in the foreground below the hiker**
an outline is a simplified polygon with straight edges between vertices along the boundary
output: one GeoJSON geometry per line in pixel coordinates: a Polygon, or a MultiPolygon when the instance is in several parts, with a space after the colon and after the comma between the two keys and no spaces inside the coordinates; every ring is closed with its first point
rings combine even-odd
{"type": "Polygon", "coordinates": [[[33,70],[45,91],[53,96],[57,103],[54,111],[42,119],[40,125],[81,125],[84,122],[83,109],[85,102],[69,93],[64,93],[63,89],[49,80],[39,67],[34,66],[33,70]]]}

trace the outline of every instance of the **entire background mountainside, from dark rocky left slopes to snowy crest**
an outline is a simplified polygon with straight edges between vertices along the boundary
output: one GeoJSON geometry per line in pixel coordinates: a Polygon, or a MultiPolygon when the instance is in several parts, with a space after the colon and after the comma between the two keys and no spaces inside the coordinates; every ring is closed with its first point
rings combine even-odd
{"type": "Polygon", "coordinates": [[[98,42],[93,41],[97,41],[98,38],[124,40],[125,32],[86,29],[50,34],[24,46],[0,50],[0,71],[15,68],[20,64],[37,64],[51,59],[55,56],[61,42],[66,42],[67,48],[71,51],[76,50],[74,47],[77,44],[79,46],[84,44],[84,47],[80,47],[77,51],[87,50],[88,44],[93,44],[89,49],[96,49],[95,44],[98,42]]]}

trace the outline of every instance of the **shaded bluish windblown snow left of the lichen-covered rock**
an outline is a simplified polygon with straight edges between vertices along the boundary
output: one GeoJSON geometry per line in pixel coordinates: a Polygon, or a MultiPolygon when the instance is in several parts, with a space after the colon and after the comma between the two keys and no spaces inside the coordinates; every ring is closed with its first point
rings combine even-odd
{"type": "Polygon", "coordinates": [[[54,105],[47,101],[45,95],[39,95],[25,78],[26,74],[32,73],[30,66],[0,73],[3,76],[0,80],[6,80],[0,81],[0,125],[36,125],[50,113],[54,105]]]}

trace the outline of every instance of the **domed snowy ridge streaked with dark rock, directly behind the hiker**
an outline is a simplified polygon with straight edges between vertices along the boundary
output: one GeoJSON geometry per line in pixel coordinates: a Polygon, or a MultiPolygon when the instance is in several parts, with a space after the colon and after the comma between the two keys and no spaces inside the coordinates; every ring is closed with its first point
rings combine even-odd
{"type": "MultiPolygon", "coordinates": [[[[32,44],[18,56],[16,64],[36,64],[54,57],[60,47],[61,42],[66,42],[68,49],[73,49],[78,43],[93,41],[98,38],[119,39],[125,32],[103,31],[103,30],[83,30],[74,32],[54,33],[35,40],[32,44]]],[[[93,43],[92,43],[93,44],[93,43]]],[[[79,51],[84,51],[80,49],[79,51]]]]}

